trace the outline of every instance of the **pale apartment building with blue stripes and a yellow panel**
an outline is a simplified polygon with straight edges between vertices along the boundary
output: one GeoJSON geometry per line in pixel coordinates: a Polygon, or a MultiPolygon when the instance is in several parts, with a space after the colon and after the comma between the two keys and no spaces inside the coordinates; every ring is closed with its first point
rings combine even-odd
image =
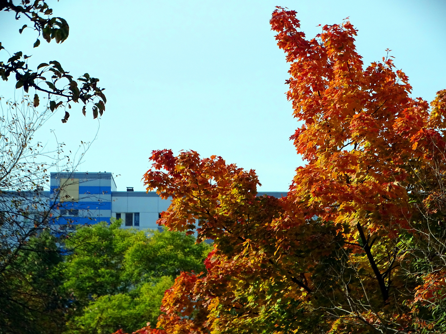
{"type": "MultiPolygon", "coordinates": [[[[160,228],[156,221],[171,199],[163,200],[155,191],[117,191],[113,175],[107,172],[51,173],[51,194],[58,194],[58,224],[95,224],[122,220],[122,228],[160,228]]],[[[286,196],[286,192],[259,195],[286,196]]]]}

